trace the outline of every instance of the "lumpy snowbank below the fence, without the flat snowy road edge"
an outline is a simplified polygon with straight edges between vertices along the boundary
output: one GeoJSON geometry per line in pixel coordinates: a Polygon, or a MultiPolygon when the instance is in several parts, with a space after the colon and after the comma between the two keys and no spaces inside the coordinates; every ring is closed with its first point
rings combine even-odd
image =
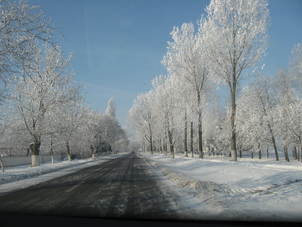
{"type": "Polygon", "coordinates": [[[40,176],[46,173],[52,173],[61,169],[66,169],[85,163],[91,163],[98,160],[100,159],[89,158],[85,160],[72,160],[72,162],[56,161],[56,163],[54,164],[51,164],[51,162],[47,162],[37,167],[29,167],[29,165],[5,167],[5,172],[0,173],[0,185],[22,179],[27,179],[30,177],[40,176]]]}

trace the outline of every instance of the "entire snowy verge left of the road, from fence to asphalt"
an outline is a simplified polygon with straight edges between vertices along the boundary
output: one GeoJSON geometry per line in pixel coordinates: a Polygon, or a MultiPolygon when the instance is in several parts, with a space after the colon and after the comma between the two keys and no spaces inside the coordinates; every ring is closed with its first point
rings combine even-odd
{"type": "Polygon", "coordinates": [[[82,168],[97,165],[124,154],[125,153],[100,156],[95,159],[75,159],[71,162],[54,160],[54,164],[46,162],[37,167],[29,167],[30,165],[5,167],[5,172],[0,172],[0,195],[73,173],[82,168]]]}

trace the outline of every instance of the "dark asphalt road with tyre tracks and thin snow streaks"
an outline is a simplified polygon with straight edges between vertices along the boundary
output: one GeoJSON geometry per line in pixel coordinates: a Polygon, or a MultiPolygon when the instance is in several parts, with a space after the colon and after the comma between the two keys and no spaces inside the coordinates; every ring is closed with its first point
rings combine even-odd
{"type": "Polygon", "coordinates": [[[176,193],[138,154],[126,154],[0,197],[0,211],[37,215],[182,219],[176,193]]]}

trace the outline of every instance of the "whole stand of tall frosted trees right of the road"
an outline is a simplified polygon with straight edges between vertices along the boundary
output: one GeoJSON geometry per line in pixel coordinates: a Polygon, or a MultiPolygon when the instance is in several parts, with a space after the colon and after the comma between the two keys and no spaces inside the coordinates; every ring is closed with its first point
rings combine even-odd
{"type": "Polygon", "coordinates": [[[166,153],[168,144],[172,157],[175,149],[193,156],[198,148],[199,158],[205,152],[230,150],[236,161],[237,148],[241,157],[242,150],[254,147],[261,158],[261,148],[274,147],[278,160],[281,146],[289,160],[288,146],[296,154],[302,145],[301,45],[294,47],[289,69],[261,77],[268,47],[268,2],[212,0],[206,12],[198,32],[192,23],[173,28],[173,42],[168,42],[162,60],[168,75],[156,77],[153,89],[134,100],[130,125],[143,145],[148,142],[151,153],[154,146],[166,153]],[[237,96],[238,83],[249,76],[257,79],[237,96]],[[215,95],[222,85],[230,91],[225,109],[215,95]]]}

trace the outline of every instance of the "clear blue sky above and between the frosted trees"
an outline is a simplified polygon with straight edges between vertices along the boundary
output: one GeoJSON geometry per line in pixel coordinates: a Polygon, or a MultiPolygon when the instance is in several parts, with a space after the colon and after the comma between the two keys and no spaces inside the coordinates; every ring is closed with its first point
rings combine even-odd
{"type": "MultiPolygon", "coordinates": [[[[128,110],[151,80],[166,74],[160,61],[171,41],[173,26],[201,18],[210,0],[28,0],[40,5],[47,18],[60,26],[67,38],[59,39],[67,52],[74,52],[76,79],[87,86],[87,100],[105,113],[114,97],[116,116],[126,125],[128,110]]],[[[302,1],[269,1],[270,45],[264,73],[287,66],[294,44],[302,42],[302,1]]],[[[196,26],[197,28],[197,26],[196,26]]]]}

